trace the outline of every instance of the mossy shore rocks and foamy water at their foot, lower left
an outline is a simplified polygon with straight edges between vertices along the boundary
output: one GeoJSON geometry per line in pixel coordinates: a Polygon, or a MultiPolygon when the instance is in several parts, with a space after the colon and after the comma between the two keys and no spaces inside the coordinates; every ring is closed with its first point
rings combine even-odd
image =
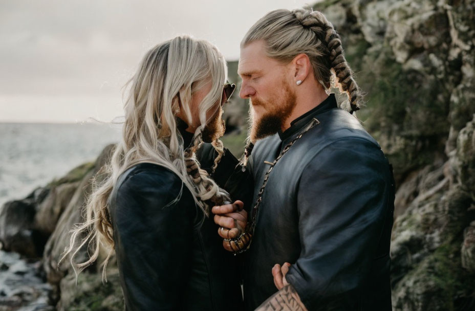
{"type": "MultiPolygon", "coordinates": [[[[5,284],[0,286],[0,310],[25,306],[41,310],[123,310],[114,258],[107,265],[104,283],[98,264],[103,256],[77,278],[70,258],[58,265],[69,246],[69,231],[82,221],[91,178],[107,161],[112,147],[105,147],[96,162],[80,165],[0,210],[0,242],[5,251],[12,252],[0,251],[0,280],[5,284]]],[[[82,248],[74,260],[82,262],[85,258],[87,251],[82,248]]]]}

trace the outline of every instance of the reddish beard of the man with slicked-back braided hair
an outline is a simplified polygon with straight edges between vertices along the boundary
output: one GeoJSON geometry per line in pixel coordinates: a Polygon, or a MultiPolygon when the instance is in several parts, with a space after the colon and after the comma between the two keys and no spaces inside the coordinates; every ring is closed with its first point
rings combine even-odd
{"type": "MultiPolygon", "coordinates": [[[[251,114],[251,133],[250,140],[255,142],[258,139],[263,139],[267,136],[274,135],[278,130],[282,129],[287,118],[289,118],[292,110],[296,104],[295,93],[289,87],[289,84],[284,82],[284,97],[272,97],[267,102],[254,99],[252,105],[262,106],[266,109],[266,113],[260,118],[255,119],[251,114]]],[[[252,108],[251,108],[252,109],[252,108]]]]}

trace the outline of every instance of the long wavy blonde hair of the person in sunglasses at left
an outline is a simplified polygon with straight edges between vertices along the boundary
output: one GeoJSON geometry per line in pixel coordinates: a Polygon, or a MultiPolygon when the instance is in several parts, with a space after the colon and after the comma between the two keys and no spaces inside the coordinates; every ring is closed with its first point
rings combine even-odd
{"type": "MultiPolygon", "coordinates": [[[[101,245],[109,249],[102,262],[102,276],[105,276],[107,261],[114,254],[108,199],[119,175],[128,168],[148,162],[175,172],[206,215],[208,206],[203,202],[206,199],[219,197],[229,200],[227,192],[199,168],[195,158],[195,151],[202,143],[201,132],[208,121],[206,112],[221,100],[226,77],[224,57],[206,40],[179,36],[160,43],[145,54],[138,71],[127,83],[131,87],[124,105],[122,140],[116,145],[111,160],[93,179],[93,192],[83,210],[84,222],[76,224],[71,230],[70,246],[59,261],[72,253],[70,260],[76,277],[78,272],[75,265],[80,273],[92,264],[99,256],[101,245]],[[179,109],[183,109],[187,118],[184,121],[192,124],[191,96],[209,80],[212,81],[211,90],[199,105],[201,125],[195,132],[192,147],[183,150],[183,138],[177,130],[176,114],[179,109]],[[198,166],[198,177],[196,170],[195,176],[187,173],[190,162],[198,166]],[[74,256],[86,243],[88,249],[93,250],[92,255],[85,262],[73,263],[74,256]]],[[[221,158],[224,152],[221,141],[216,139],[212,145],[218,151],[218,158],[221,158]]]]}

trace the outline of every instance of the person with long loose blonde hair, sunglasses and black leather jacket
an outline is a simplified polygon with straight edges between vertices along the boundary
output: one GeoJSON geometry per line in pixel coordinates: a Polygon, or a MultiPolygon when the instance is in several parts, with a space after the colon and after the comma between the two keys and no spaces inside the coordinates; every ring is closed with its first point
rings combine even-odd
{"type": "MultiPolygon", "coordinates": [[[[110,248],[105,271],[115,251],[127,310],[242,307],[235,256],[224,250],[209,217],[210,207],[230,202],[230,195],[199,163],[210,166],[221,186],[237,164],[219,140],[221,106],[234,89],[226,76],[217,48],[182,36],[148,51],[131,80],[122,141],[62,257],[94,241],[93,255],[78,265],[82,270],[102,243],[110,248]],[[203,141],[211,144],[198,161],[203,141]],[[83,231],[89,234],[75,248],[83,231]]],[[[234,215],[244,228],[246,212],[234,215]]]]}

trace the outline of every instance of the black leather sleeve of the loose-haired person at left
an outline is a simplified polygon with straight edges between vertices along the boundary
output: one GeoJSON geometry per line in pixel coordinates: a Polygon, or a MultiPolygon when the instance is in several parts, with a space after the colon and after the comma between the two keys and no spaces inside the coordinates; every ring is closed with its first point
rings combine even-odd
{"type": "Polygon", "coordinates": [[[119,186],[113,218],[127,310],[180,309],[196,207],[177,175],[140,171],[119,186]]]}

